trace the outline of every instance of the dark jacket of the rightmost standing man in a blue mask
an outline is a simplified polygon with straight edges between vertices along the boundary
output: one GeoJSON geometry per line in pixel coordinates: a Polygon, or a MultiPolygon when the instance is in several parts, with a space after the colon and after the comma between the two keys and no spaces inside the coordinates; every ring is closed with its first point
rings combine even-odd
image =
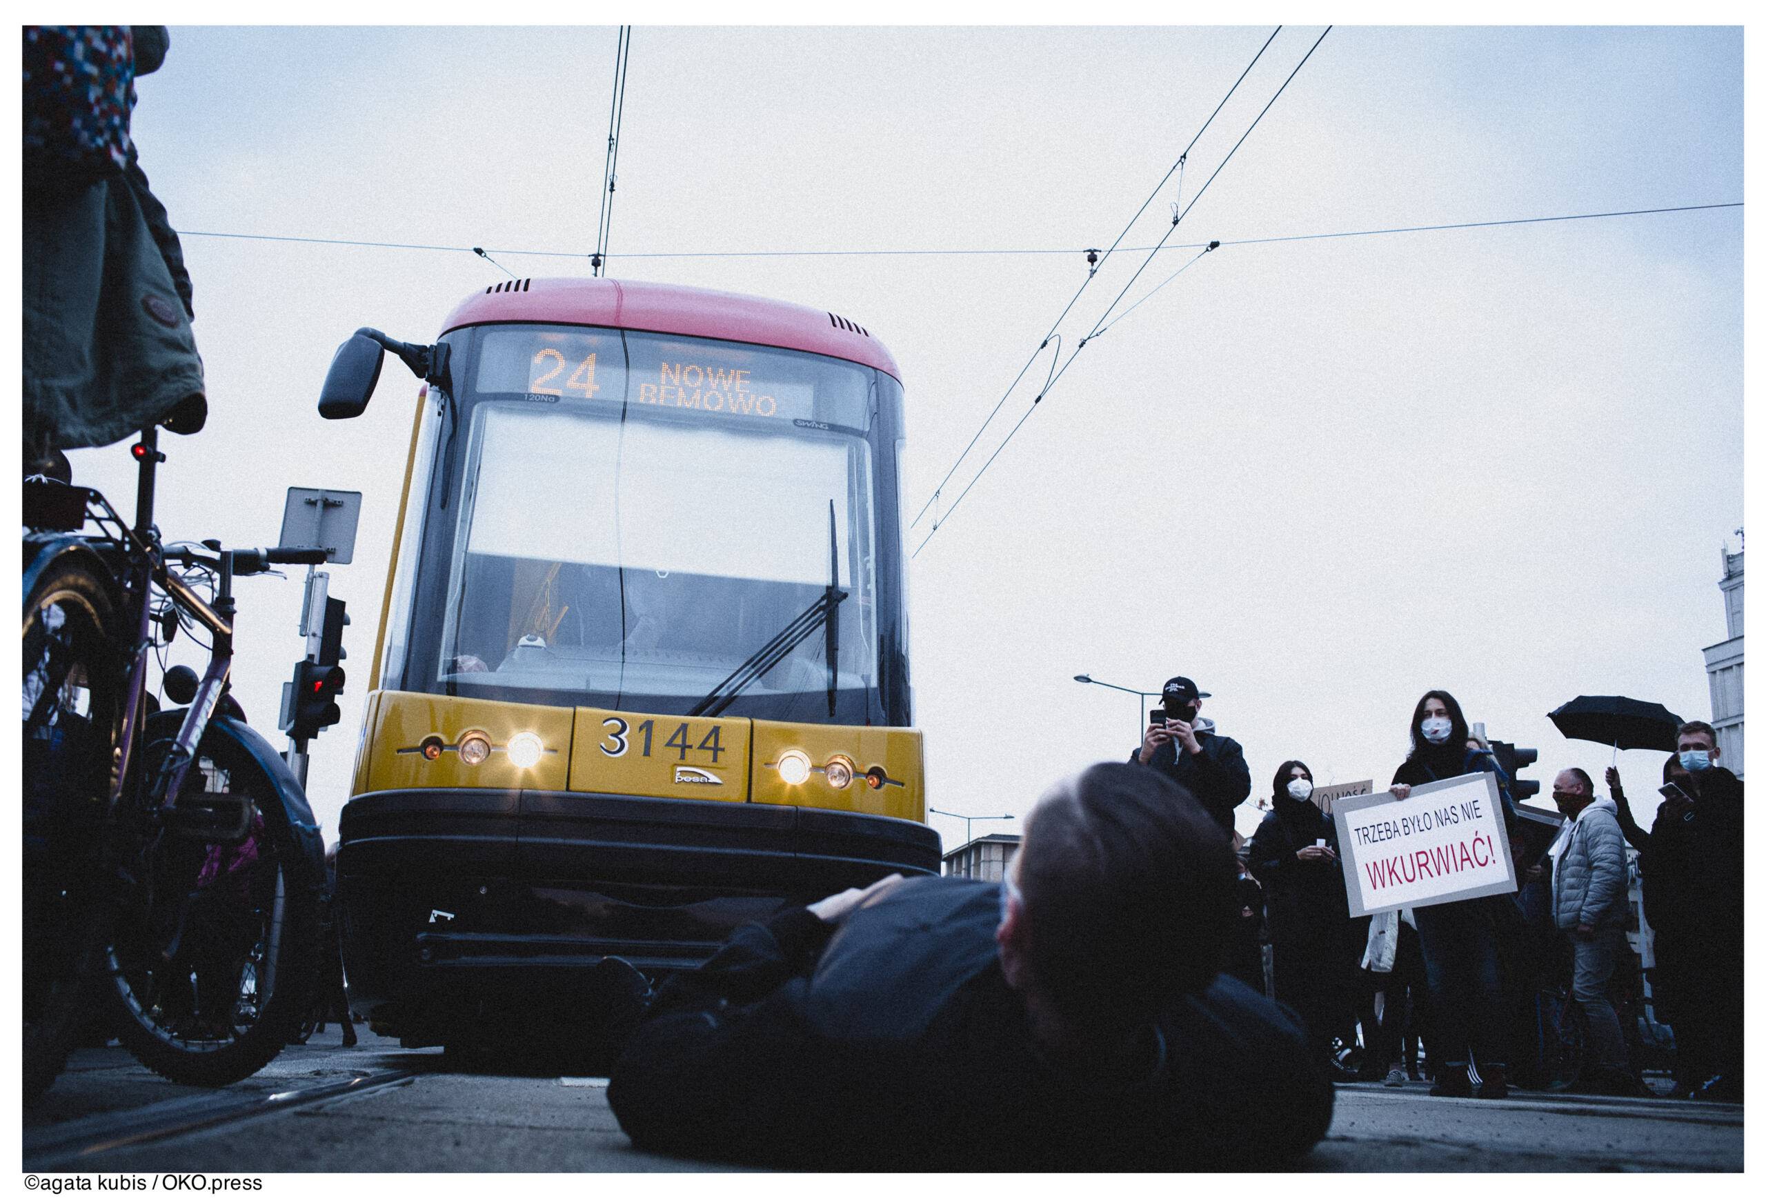
{"type": "Polygon", "coordinates": [[[1657,933],[1657,963],[1741,962],[1741,780],[1717,766],[1679,815],[1658,812],[1641,856],[1644,917],[1657,933]]]}

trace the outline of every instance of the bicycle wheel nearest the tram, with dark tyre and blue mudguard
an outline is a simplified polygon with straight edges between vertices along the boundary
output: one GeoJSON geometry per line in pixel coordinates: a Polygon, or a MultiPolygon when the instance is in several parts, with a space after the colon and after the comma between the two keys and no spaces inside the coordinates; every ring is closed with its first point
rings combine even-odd
{"type": "MultiPolygon", "coordinates": [[[[182,713],[148,725],[141,776],[182,713]]],[[[143,820],[132,891],[109,949],[117,1034],[136,1060],[185,1085],[231,1085],[268,1064],[311,1011],[320,900],[265,769],[210,729],[177,806],[201,820],[143,820]],[[231,831],[215,831],[237,813],[231,831]]]]}

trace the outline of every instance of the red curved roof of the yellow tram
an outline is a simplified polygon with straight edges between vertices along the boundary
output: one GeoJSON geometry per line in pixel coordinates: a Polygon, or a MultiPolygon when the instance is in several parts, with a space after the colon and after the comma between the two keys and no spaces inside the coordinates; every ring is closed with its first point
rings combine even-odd
{"type": "Polygon", "coordinates": [[[671,282],[514,279],[466,296],[449,314],[442,332],[516,321],[602,325],[804,349],[876,367],[901,379],[901,369],[883,342],[842,316],[802,303],[671,282]]]}

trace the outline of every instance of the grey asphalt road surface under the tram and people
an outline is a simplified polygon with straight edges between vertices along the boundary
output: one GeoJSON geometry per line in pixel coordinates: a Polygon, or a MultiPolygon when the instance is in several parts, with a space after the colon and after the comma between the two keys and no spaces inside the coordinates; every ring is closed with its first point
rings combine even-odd
{"type": "MultiPolygon", "coordinates": [[[[25,1112],[23,1164],[28,1173],[729,1172],[634,1150],[597,1082],[459,1071],[440,1050],[406,1052],[366,1030],[357,1048],[341,1048],[336,1027],[219,1092],[164,1082],[122,1048],[88,1048],[25,1112]],[[380,1085],[336,1094],[353,1078],[380,1085]],[[304,1101],[313,1094],[328,1097],[304,1101]]],[[[1351,1085],[1337,1090],[1330,1136],[1303,1168],[1740,1170],[1741,1108],[1436,1099],[1427,1083],[1351,1085]]]]}

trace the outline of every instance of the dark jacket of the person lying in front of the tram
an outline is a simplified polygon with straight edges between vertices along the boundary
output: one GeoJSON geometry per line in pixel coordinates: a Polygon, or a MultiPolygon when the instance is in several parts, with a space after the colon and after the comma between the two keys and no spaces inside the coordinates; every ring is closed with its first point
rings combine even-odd
{"type": "Polygon", "coordinates": [[[1300,1029],[1233,977],[1174,997],[1134,1066],[1038,1053],[1000,887],[915,879],[839,933],[802,907],[671,979],[613,1069],[639,1149],[816,1170],[1275,1168],[1330,1124],[1300,1029]]]}

